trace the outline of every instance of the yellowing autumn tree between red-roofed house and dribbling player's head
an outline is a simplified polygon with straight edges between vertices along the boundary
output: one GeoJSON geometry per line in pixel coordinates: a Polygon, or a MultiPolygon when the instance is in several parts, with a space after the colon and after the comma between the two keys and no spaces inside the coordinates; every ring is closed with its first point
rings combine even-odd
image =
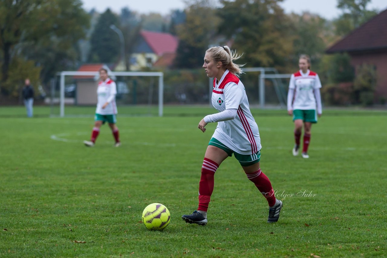
{"type": "Polygon", "coordinates": [[[192,1],[185,10],[186,20],[176,26],[179,45],[174,66],[196,68],[203,62],[205,51],[216,34],[219,19],[211,1],[192,1]]]}

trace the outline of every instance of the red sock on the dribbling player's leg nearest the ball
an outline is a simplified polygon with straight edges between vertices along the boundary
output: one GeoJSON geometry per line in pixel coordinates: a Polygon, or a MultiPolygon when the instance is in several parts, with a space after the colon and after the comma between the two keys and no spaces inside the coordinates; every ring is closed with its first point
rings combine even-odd
{"type": "Polygon", "coordinates": [[[204,158],[202,176],[199,182],[199,207],[197,210],[207,212],[212,191],[214,191],[214,174],[219,165],[211,159],[204,158]]]}

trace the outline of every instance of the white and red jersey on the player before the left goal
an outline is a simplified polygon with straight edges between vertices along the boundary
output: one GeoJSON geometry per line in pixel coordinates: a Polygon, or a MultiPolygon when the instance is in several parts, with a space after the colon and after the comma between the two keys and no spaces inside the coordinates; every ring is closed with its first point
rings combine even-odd
{"type": "Polygon", "coordinates": [[[110,78],[106,79],[104,82],[100,81],[98,83],[97,88],[97,114],[117,114],[117,105],[116,105],[116,94],[117,94],[117,86],[116,83],[110,78]],[[109,104],[106,108],[102,108],[102,106],[108,102],[109,104]]]}

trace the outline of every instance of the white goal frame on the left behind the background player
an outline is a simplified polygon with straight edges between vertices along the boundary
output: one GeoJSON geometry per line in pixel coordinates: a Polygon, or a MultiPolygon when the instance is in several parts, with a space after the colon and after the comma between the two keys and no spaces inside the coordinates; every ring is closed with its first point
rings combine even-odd
{"type": "MultiPolygon", "coordinates": [[[[80,71],[62,71],[57,73],[60,76],[60,117],[65,116],[65,76],[66,75],[86,75],[99,78],[98,72],[80,72],[80,71]]],[[[109,72],[112,76],[144,76],[144,77],[158,77],[159,78],[159,116],[163,116],[163,100],[164,100],[164,73],[163,72],[109,72]]]]}

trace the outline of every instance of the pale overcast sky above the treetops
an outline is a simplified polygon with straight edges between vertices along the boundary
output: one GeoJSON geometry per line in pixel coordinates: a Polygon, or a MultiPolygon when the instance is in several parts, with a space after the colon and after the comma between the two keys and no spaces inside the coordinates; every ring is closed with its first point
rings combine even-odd
{"type": "MultiPolygon", "coordinates": [[[[81,0],[86,10],[95,8],[98,12],[104,12],[110,8],[119,13],[123,7],[137,11],[141,14],[156,12],[162,15],[169,14],[171,10],[183,10],[185,3],[183,0],[81,0]]],[[[300,14],[309,11],[319,14],[326,19],[339,16],[340,11],[336,8],[337,0],[284,0],[280,5],[286,13],[295,12],[300,14]]],[[[387,9],[387,0],[371,0],[367,9],[387,9]]]]}

